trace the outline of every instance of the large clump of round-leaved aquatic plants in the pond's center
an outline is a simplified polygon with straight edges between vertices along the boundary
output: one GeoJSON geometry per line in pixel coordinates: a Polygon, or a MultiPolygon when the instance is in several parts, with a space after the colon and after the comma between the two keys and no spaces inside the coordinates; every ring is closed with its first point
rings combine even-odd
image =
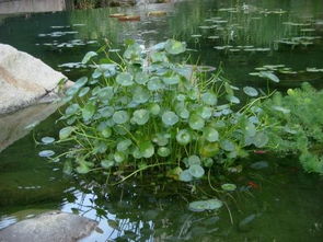
{"type": "Polygon", "coordinates": [[[96,69],[67,90],[71,101],[59,132],[59,142],[72,143],[60,154],[67,158],[66,172],[117,170],[129,174],[124,181],[158,168],[192,182],[267,145],[270,125],[256,108],[265,96],[251,87],[240,91],[220,71],[206,77],[173,62],[185,43],[170,39],[149,49],[130,43],[120,65],[107,56],[99,59],[103,50],[86,54],[82,62],[96,69]],[[245,106],[234,94],[239,91],[249,96],[245,106]]]}

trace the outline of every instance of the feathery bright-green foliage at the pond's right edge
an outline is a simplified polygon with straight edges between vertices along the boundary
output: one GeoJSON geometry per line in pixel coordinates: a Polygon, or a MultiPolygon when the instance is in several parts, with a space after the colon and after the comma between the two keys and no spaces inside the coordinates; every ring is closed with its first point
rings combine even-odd
{"type": "Polygon", "coordinates": [[[308,172],[323,174],[323,91],[304,83],[301,89],[277,93],[263,103],[262,108],[273,124],[270,147],[284,154],[299,154],[308,172]]]}

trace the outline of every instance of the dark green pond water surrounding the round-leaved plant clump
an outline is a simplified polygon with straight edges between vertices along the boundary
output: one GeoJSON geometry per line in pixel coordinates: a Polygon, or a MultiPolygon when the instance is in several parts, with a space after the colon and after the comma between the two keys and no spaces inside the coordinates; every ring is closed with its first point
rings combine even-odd
{"type": "MultiPolygon", "coordinates": [[[[221,66],[235,85],[265,87],[256,72],[267,68],[280,78],[273,88],[281,91],[302,81],[322,87],[322,0],[194,0],[0,16],[1,43],[41,58],[71,80],[89,71],[80,64],[83,55],[106,41],[115,55],[126,38],[150,46],[169,37],[187,42],[192,64],[221,66]],[[148,18],[147,12],[153,10],[164,10],[166,15],[148,18]],[[108,18],[116,12],[139,14],[141,21],[108,18]]],[[[57,137],[58,117],[58,112],[53,114],[0,153],[0,229],[59,209],[100,221],[101,229],[85,241],[323,240],[323,180],[304,174],[297,158],[253,155],[243,161],[243,174],[229,176],[239,192],[223,197],[228,209],[193,212],[187,209],[187,200],[194,199],[192,187],[183,184],[132,181],[103,191],[100,184],[105,181],[64,176],[60,162],[38,157],[42,150],[59,153],[61,148],[34,141],[57,137]],[[257,161],[266,161],[268,168],[250,168],[249,163],[257,161]]],[[[35,122],[28,119],[23,127],[33,127],[35,122]]],[[[19,136],[2,131],[8,127],[0,124],[1,142],[19,136]]]]}

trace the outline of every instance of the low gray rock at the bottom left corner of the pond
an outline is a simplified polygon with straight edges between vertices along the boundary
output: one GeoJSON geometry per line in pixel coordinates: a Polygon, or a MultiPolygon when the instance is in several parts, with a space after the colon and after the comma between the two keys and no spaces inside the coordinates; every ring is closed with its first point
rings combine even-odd
{"type": "Polygon", "coordinates": [[[84,217],[51,211],[0,230],[0,242],[73,242],[88,237],[96,226],[84,217]]]}

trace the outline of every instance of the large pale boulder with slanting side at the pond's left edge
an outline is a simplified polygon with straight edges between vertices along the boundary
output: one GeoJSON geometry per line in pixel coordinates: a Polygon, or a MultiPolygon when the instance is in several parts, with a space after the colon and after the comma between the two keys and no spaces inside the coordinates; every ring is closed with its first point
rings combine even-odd
{"type": "Polygon", "coordinates": [[[0,114],[14,112],[55,93],[67,79],[39,59],[0,44],[0,114]]]}

